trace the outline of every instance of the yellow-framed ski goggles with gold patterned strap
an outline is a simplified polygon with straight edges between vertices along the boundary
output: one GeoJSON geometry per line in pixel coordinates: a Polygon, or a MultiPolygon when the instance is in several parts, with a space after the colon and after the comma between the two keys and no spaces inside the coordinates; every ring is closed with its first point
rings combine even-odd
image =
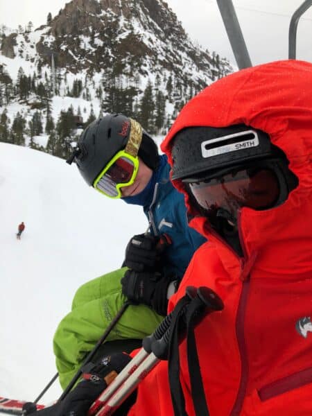
{"type": "Polygon", "coordinates": [[[121,198],[121,187],[130,187],[139,170],[137,153],[142,140],[141,125],[130,119],[130,134],[124,150],[120,150],[96,177],[94,188],[109,198],[121,198]]]}

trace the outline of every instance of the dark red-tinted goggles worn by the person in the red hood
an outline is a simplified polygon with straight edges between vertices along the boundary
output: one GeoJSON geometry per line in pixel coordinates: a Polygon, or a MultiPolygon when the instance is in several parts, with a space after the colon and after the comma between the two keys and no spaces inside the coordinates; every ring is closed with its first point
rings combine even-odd
{"type": "Polygon", "coordinates": [[[238,168],[205,179],[183,180],[200,207],[213,214],[225,209],[236,218],[237,209],[268,209],[279,199],[279,179],[269,168],[238,168]]]}

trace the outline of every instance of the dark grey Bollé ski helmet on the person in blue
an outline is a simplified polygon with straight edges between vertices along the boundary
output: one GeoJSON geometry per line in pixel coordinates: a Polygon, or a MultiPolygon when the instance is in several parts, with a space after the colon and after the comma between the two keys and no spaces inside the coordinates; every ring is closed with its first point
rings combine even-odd
{"type": "MultiPolygon", "coordinates": [[[[99,173],[108,162],[125,148],[130,134],[130,119],[123,114],[108,114],[92,123],[83,131],[78,147],[67,161],[76,162],[84,180],[92,186],[99,173]]],[[[142,141],[138,156],[155,170],[159,163],[155,141],[142,130],[142,141]]]]}

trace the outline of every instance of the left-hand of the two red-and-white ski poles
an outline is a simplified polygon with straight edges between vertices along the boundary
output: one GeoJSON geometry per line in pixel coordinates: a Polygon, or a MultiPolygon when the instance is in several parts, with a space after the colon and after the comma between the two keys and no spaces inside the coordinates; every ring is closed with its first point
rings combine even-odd
{"type": "MultiPolygon", "coordinates": [[[[187,295],[182,298],[180,302],[188,304],[191,302],[193,296],[196,295],[196,288],[189,286],[187,290],[187,295]],[[195,292],[194,292],[195,290],[195,292]]],[[[103,407],[103,405],[114,395],[116,390],[129,378],[129,376],[137,370],[139,365],[148,357],[150,352],[152,352],[152,345],[155,341],[162,339],[164,333],[168,331],[172,319],[172,313],[162,320],[159,326],[155,329],[152,335],[144,338],[142,345],[143,347],[139,350],[137,355],[132,358],[130,363],[126,365],[123,370],[116,376],[116,378],[107,386],[103,393],[94,401],[94,404],[89,408],[88,416],[96,415],[96,412],[103,407]]]]}

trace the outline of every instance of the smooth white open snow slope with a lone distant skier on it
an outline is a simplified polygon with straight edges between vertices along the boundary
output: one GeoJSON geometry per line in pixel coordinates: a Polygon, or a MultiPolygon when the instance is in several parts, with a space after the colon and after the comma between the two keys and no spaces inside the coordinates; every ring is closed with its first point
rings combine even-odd
{"type": "MultiPolygon", "coordinates": [[[[53,333],[76,289],[119,268],[130,237],[146,228],[141,207],[87,187],[76,166],[0,143],[1,396],[39,395],[57,371],[53,333]]],[[[55,381],[42,403],[60,393],[55,381]]]]}

